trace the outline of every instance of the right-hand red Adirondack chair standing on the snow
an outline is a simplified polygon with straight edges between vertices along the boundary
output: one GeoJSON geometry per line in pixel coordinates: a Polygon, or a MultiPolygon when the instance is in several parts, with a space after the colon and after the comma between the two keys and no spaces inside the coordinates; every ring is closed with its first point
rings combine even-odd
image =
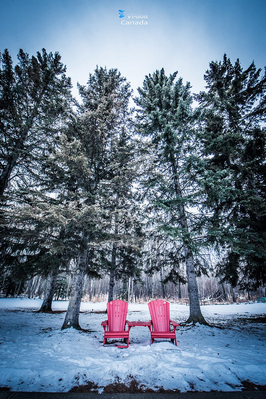
{"type": "Polygon", "coordinates": [[[148,303],[150,311],[150,338],[153,344],[155,338],[169,338],[172,343],[176,343],[175,329],[179,326],[178,323],[170,319],[169,302],[163,300],[155,300],[148,303]],[[173,330],[170,328],[173,326],[173,330]]]}

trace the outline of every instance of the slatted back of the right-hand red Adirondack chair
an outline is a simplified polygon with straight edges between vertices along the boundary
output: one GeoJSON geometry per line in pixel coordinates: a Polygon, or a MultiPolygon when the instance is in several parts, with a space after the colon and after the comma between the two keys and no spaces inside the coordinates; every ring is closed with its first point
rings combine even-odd
{"type": "Polygon", "coordinates": [[[169,302],[154,300],[148,303],[154,331],[170,331],[169,302]]]}

